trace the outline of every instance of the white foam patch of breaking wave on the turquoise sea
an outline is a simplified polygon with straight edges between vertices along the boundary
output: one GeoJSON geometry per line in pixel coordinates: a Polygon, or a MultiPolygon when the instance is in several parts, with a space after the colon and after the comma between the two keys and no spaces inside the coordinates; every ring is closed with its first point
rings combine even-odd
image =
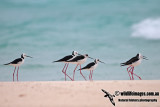
{"type": "Polygon", "coordinates": [[[145,19],[132,26],[133,37],[143,37],[147,39],[160,39],[160,18],[145,19]]]}

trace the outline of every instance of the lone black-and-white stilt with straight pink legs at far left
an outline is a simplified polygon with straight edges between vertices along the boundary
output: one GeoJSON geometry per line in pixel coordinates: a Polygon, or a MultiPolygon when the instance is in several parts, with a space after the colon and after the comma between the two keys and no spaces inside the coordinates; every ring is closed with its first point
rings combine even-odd
{"type": "Polygon", "coordinates": [[[21,65],[24,63],[24,58],[25,58],[25,57],[32,58],[31,56],[27,56],[25,53],[23,53],[23,54],[21,55],[21,58],[17,58],[17,59],[13,60],[13,61],[10,62],[10,63],[4,64],[4,65],[11,65],[11,66],[14,66],[14,67],[15,67],[14,72],[13,72],[13,81],[14,81],[14,73],[15,73],[16,67],[18,67],[18,69],[17,69],[17,81],[18,81],[19,66],[21,66],[21,65]]]}

